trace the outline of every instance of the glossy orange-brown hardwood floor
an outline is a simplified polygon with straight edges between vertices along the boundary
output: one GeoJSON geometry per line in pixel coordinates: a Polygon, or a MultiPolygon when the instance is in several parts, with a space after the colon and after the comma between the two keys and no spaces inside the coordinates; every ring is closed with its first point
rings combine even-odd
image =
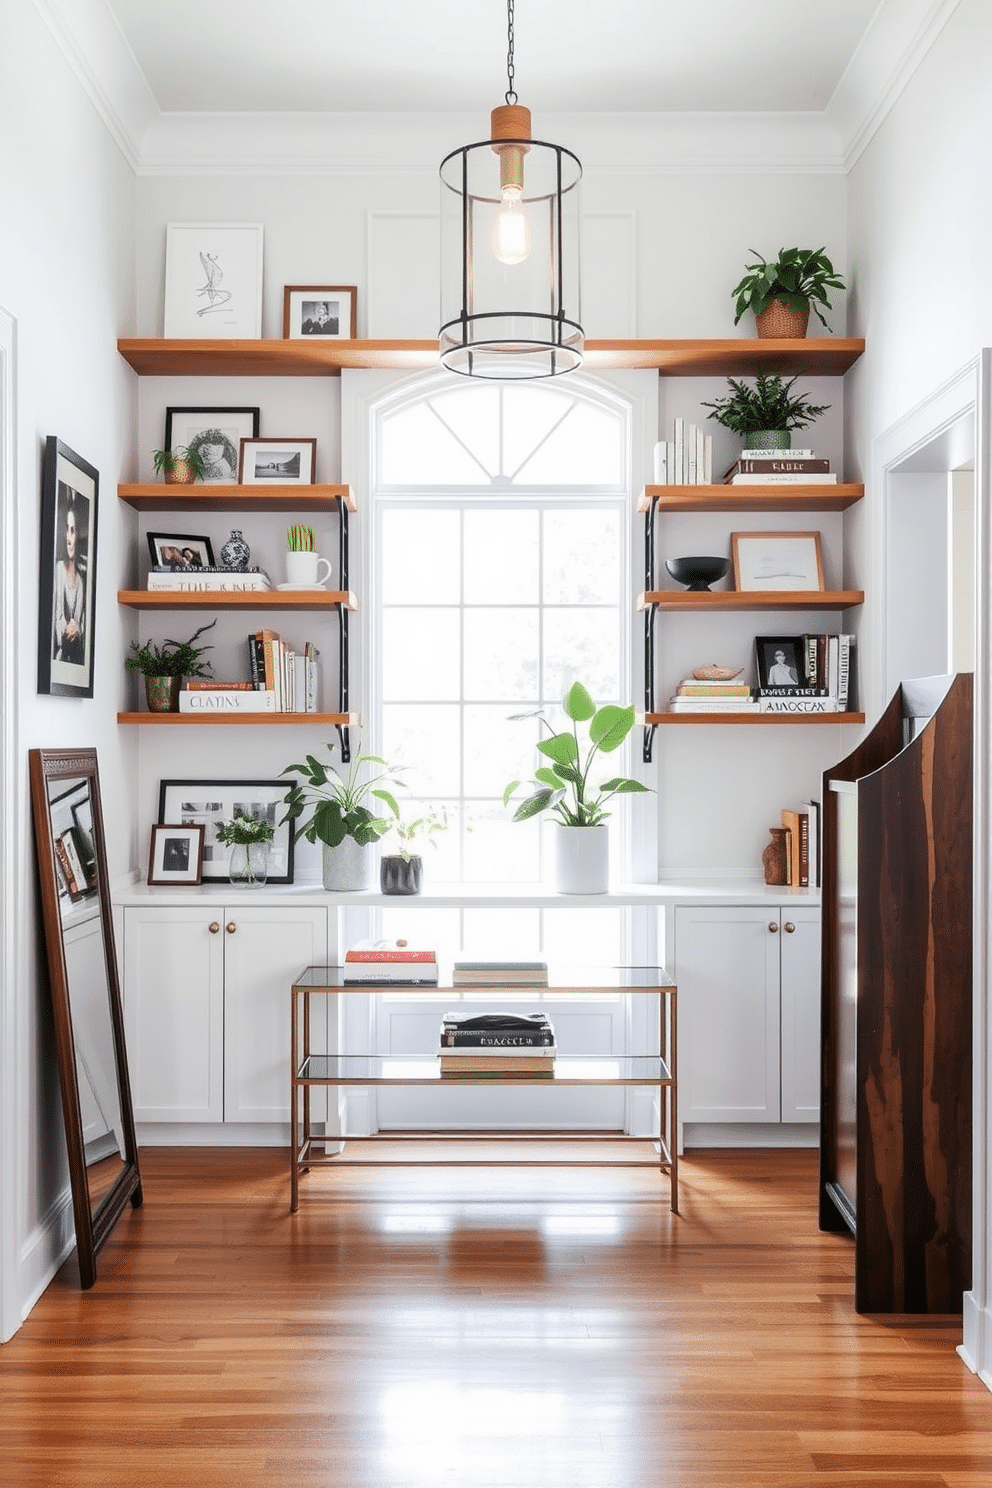
{"type": "MultiPolygon", "coordinates": [[[[376,1149],[382,1153],[384,1149],[376,1149]]],[[[408,1155],[408,1153],[405,1153],[408,1155]]],[[[0,1350],[3,1488],[988,1488],[959,1318],[858,1317],[812,1152],[645,1170],[144,1149],[0,1350]]]]}

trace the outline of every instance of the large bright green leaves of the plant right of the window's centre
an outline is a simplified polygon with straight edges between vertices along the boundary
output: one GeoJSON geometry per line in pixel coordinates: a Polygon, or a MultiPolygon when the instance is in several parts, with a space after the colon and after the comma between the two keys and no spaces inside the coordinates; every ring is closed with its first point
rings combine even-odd
{"type": "MultiPolygon", "coordinates": [[[[634,707],[620,708],[613,702],[598,708],[587,689],[574,682],[562,699],[562,711],[571,720],[570,729],[556,731],[544,717],[543,708],[531,713],[515,713],[515,719],[538,719],[547,729],[547,738],[538,740],[537,748],[549,760],[534,771],[534,790],[513,812],[513,821],[528,821],[541,811],[549,811],[562,826],[596,827],[610,815],[607,802],[622,795],[644,795],[650,790],[640,780],[613,775],[596,786],[589,783],[596,754],[611,754],[620,748],[634,728],[634,707]],[[579,725],[587,723],[587,738],[580,743],[579,725]]],[[[503,792],[503,805],[522,781],[513,780],[503,792]]]]}

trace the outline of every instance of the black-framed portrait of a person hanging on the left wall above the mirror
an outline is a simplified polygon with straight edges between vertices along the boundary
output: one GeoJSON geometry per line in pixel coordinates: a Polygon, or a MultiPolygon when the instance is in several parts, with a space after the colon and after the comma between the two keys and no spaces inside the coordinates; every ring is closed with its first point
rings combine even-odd
{"type": "Polygon", "coordinates": [[[42,464],[37,690],[92,698],[100,475],[49,434],[42,464]]]}

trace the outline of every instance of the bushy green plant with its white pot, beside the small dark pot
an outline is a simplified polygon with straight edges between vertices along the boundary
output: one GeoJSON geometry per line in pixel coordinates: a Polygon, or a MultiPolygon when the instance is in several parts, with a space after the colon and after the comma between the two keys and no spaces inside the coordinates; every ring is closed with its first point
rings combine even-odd
{"type": "MultiPolygon", "coordinates": [[[[326,747],[333,754],[336,745],[326,747]]],[[[314,754],[287,765],[283,774],[302,777],[286,795],[283,820],[300,821],[294,827],[297,842],[306,838],[323,845],[324,888],[370,888],[373,847],[400,815],[393,795],[400,784],[393,778],[399,771],[378,754],[358,750],[344,774],[314,754]],[[382,814],[382,806],[388,814],[382,814]]]]}

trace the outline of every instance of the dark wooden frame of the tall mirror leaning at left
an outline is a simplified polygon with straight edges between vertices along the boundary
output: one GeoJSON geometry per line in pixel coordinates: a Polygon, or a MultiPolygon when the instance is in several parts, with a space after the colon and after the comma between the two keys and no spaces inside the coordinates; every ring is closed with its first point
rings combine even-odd
{"type": "Polygon", "coordinates": [[[113,936],[113,912],[107,878],[107,847],[100,801],[100,772],[95,750],[28,750],[28,775],[31,781],[31,814],[34,817],[34,841],[37,847],[39,890],[42,894],[42,927],[48,949],[49,987],[55,1019],[55,1055],[58,1061],[58,1083],[62,1095],[65,1143],[68,1147],[68,1176],[73,1190],[73,1216],[76,1220],[76,1251],[79,1257],[79,1283],[83,1289],[97,1280],[97,1251],[120,1217],[125,1204],[132,1208],[141,1204],[141,1174],[138,1173],[138,1149],[134,1134],[131,1109],[131,1085],[128,1080],[128,1056],[123,1042],[123,1007],[120,1003],[120,981],[117,978],[117,955],[113,936]],[[62,912],[59,906],[59,869],[57,865],[55,835],[52,832],[51,795],[52,783],[86,780],[92,811],[92,845],[97,873],[97,896],[103,951],[107,972],[107,998],[110,1004],[110,1030],[117,1074],[117,1098],[120,1106],[120,1152],[122,1170],[109,1190],[94,1205],[89,1196],[86,1174],[86,1152],[83,1119],[79,1098],[76,1065],[76,1042],[73,1037],[71,997],[68,964],[62,936],[62,912]]]}

